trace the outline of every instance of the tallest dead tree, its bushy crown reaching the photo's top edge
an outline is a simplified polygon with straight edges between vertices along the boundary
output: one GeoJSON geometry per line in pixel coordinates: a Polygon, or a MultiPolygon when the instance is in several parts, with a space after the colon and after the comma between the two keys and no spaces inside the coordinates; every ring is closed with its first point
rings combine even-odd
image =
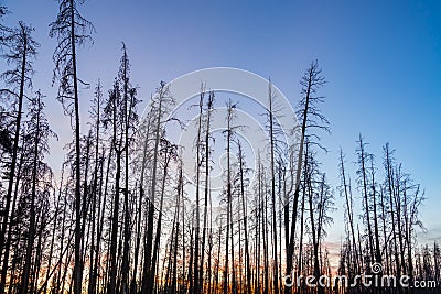
{"type": "MultiPolygon", "coordinates": [[[[60,9],[56,20],[51,23],[50,36],[56,37],[53,61],[55,63],[53,81],[60,80],[57,99],[63,104],[64,111],[74,118],[75,132],[75,266],[74,266],[74,293],[82,293],[83,266],[82,264],[82,193],[80,193],[80,122],[79,97],[77,75],[77,45],[90,42],[90,33],[94,26],[84,19],[77,9],[75,0],[60,0],[60,9]]],[[[83,195],[86,197],[85,195],[83,195]]],[[[85,200],[85,198],[83,199],[85,200]]]]}

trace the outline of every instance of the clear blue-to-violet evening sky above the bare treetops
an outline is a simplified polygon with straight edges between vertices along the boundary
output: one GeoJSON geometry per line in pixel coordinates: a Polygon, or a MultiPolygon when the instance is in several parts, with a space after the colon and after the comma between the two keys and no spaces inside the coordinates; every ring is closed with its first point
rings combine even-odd
{"type": "MultiPolygon", "coordinates": [[[[60,142],[49,159],[61,166],[71,139],[68,119],[50,88],[54,40],[49,23],[57,2],[7,0],[9,25],[23,20],[35,26],[41,43],[35,88],[46,105],[60,142]]],[[[389,142],[406,172],[426,189],[421,208],[428,233],[441,240],[441,2],[433,1],[116,1],[88,0],[79,8],[95,24],[94,45],[79,52],[79,76],[109,88],[117,74],[121,41],[132,64],[132,83],[147,100],[160,80],[213,66],[247,69],[272,81],[294,104],[299,79],[311,59],[319,59],[329,84],[323,112],[331,135],[323,168],[335,187],[340,146],[348,165],[355,161],[358,133],[381,164],[389,142]]],[[[3,66],[3,64],[1,64],[3,66]]],[[[2,72],[3,69],[1,69],[2,72]]],[[[90,89],[83,89],[87,116],[90,89]]],[[[353,175],[353,178],[355,175],[353,175]]],[[[342,202],[333,228],[343,228],[342,202]]],[[[357,202],[357,205],[361,205],[357,202]]],[[[330,238],[340,242],[343,231],[330,238]]]]}

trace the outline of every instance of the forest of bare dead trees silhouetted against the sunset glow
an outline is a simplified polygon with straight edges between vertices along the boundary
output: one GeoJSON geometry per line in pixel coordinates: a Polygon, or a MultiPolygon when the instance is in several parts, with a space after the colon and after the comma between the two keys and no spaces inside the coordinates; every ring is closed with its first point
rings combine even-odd
{"type": "Polygon", "coordinates": [[[173,113],[172,89],[161,81],[151,97],[139,97],[125,43],[112,87],[98,79],[88,81],[93,96],[78,90],[86,83],[78,47],[92,44],[95,33],[82,3],[60,0],[47,20],[56,40],[47,87],[56,87],[57,97],[33,87],[41,46],[34,29],[6,25],[3,19],[19,12],[0,7],[7,65],[0,76],[0,293],[441,293],[440,246],[417,238],[424,229],[424,188],[394,146],[385,143],[373,154],[359,134],[355,149],[342,149],[338,166],[327,171],[338,174],[340,185],[329,183],[320,159],[327,156],[321,138],[332,127],[322,106],[331,101],[318,61],[292,77],[300,78],[301,92],[290,134],[278,122],[280,97],[268,81],[267,141],[256,156],[239,134],[239,98],[196,85],[189,167],[183,146],[169,135],[186,123],[173,113]],[[61,171],[45,160],[57,137],[49,99],[60,101],[72,127],[61,171]],[[79,113],[86,100],[87,123],[79,113]],[[143,113],[141,100],[148,100],[143,113]],[[220,109],[223,131],[215,135],[220,109]],[[293,144],[287,135],[295,137],[293,144]],[[218,149],[225,166],[214,189],[218,149]],[[355,172],[345,152],[355,152],[355,172]],[[337,209],[344,224],[332,218],[337,209]],[[326,242],[334,227],[345,236],[337,255],[326,242]],[[369,286],[359,275],[392,276],[396,285],[369,286]],[[322,276],[347,283],[318,283],[322,276]]]}

